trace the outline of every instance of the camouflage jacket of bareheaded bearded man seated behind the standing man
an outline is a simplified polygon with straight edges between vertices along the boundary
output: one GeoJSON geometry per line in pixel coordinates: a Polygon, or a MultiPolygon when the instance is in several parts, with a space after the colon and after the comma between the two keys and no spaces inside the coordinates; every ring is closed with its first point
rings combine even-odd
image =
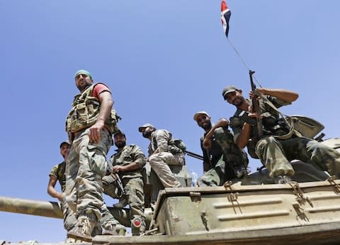
{"type": "Polygon", "coordinates": [[[135,178],[142,177],[142,167],[145,166],[147,162],[142,149],[134,144],[130,146],[124,146],[124,148],[111,156],[110,162],[114,165],[128,165],[130,163],[139,163],[141,165],[140,169],[132,170],[129,172],[118,173],[120,178],[135,178]]]}

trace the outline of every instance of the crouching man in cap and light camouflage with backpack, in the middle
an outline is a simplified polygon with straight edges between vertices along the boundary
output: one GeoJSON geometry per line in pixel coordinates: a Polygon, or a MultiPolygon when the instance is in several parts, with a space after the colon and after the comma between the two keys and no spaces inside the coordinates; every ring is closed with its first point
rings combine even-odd
{"type": "Polygon", "coordinates": [[[174,145],[171,133],[164,129],[155,129],[151,124],[140,126],[138,131],[150,141],[147,160],[162,185],[181,187],[181,183],[171,172],[169,165],[185,165],[184,152],[174,145]]]}

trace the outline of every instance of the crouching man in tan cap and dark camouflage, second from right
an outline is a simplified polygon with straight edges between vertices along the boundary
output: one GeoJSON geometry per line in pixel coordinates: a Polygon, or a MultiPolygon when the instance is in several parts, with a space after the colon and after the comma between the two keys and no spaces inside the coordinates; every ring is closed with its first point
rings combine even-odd
{"type": "Polygon", "coordinates": [[[220,119],[212,125],[211,118],[205,111],[198,111],[193,119],[205,131],[200,138],[204,175],[198,178],[198,186],[220,186],[228,180],[246,175],[248,157],[234,143],[227,119],[220,119]]]}

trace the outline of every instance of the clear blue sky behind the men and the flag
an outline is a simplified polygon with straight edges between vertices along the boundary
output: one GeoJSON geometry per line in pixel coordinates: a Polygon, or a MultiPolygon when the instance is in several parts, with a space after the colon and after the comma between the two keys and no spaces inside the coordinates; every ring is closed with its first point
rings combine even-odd
{"type": "MultiPolygon", "coordinates": [[[[339,136],[340,1],[229,0],[229,40],[263,87],[300,94],[285,114],[302,114],[339,136]]],[[[128,143],[147,151],[137,131],[149,122],[200,153],[193,114],[231,116],[222,88],[249,91],[248,70],[227,42],[220,0],[0,0],[0,195],[55,201],[48,174],[60,163],[64,119],[89,70],[111,87],[128,143]]],[[[113,154],[111,148],[111,156],[113,154]]],[[[200,160],[186,158],[202,175],[200,160]]],[[[252,171],[260,166],[251,160],[252,171]]],[[[111,205],[114,201],[106,197],[111,205]]],[[[0,212],[0,239],[63,241],[62,219],[0,212]]]]}

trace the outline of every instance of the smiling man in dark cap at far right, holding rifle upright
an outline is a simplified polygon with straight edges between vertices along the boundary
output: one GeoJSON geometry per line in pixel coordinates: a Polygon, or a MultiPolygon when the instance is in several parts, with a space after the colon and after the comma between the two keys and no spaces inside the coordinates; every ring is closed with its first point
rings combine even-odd
{"type": "Polygon", "coordinates": [[[331,175],[340,174],[340,153],[333,148],[323,145],[311,138],[299,136],[298,133],[286,137],[282,132],[288,132],[287,125],[280,123],[278,111],[271,106],[282,107],[294,102],[298,94],[284,89],[257,89],[257,94],[250,92],[250,97],[263,95],[259,99],[261,109],[261,121],[263,124],[263,137],[256,139],[256,125],[249,118],[256,117],[250,107],[251,101],[245,99],[242,90],[235,86],[227,86],[222,91],[222,96],[229,104],[237,107],[237,111],[230,119],[230,126],[234,131],[234,141],[240,148],[248,147],[252,157],[260,158],[266,166],[269,176],[276,183],[288,183],[294,175],[294,169],[290,160],[302,160],[312,163],[321,170],[328,170],[331,175]],[[260,95],[261,95],[260,94],[260,95]],[[249,114],[248,114],[249,112],[249,114]],[[248,114],[248,116],[246,116],[248,114]],[[276,137],[275,137],[276,136],[276,137]],[[254,155],[256,153],[256,156],[254,155]]]}

